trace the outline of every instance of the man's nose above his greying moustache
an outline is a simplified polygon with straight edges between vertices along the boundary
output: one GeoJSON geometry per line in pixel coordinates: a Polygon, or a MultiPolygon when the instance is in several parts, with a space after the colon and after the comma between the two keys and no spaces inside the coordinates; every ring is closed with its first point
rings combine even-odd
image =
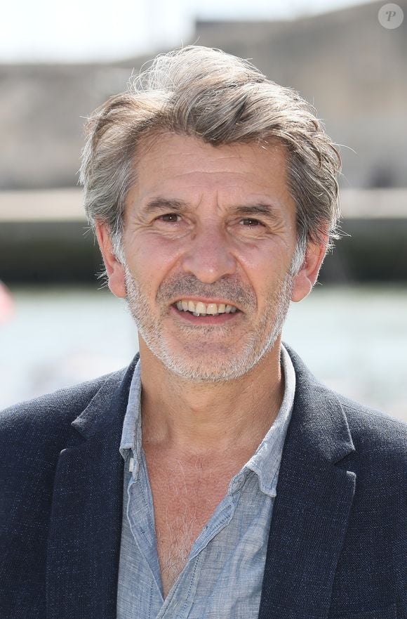
{"type": "Polygon", "coordinates": [[[185,253],[182,269],[208,284],[236,271],[236,260],[231,252],[230,239],[216,221],[204,221],[194,232],[185,253]]]}

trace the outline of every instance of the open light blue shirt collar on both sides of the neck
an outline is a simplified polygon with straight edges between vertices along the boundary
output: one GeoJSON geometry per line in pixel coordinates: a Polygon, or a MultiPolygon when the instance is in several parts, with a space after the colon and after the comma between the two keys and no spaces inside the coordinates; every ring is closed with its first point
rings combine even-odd
{"type": "MultiPolygon", "coordinates": [[[[265,438],[263,438],[255,454],[246,462],[240,473],[234,477],[230,490],[233,490],[236,485],[240,486],[243,475],[251,470],[258,476],[262,493],[272,497],[276,496],[277,478],[283,452],[283,444],[291,419],[295,393],[295,370],[291,358],[283,344],[281,344],[281,370],[284,375],[284,395],[279,414],[276,419],[274,419],[274,423],[270,426],[269,431],[267,431],[265,438]]],[[[124,460],[128,457],[129,450],[133,450],[134,478],[138,475],[141,455],[142,433],[140,403],[141,360],[139,358],[135,365],[133,379],[131,381],[120,443],[120,453],[124,460]]]]}

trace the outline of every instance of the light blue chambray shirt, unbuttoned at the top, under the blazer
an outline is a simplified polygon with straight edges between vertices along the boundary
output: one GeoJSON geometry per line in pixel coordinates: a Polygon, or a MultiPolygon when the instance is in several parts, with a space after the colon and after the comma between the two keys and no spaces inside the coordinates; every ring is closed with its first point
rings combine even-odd
{"type": "Polygon", "coordinates": [[[120,445],[125,466],[116,619],[258,618],[281,453],[295,392],[294,367],[283,346],[281,367],[285,391],[279,414],[255,454],[232,478],[164,600],[152,492],[141,444],[138,360],[120,445]]]}

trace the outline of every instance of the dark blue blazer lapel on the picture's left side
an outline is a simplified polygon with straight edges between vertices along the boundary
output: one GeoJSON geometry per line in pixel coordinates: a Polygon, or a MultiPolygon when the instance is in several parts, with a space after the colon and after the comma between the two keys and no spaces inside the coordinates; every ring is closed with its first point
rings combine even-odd
{"type": "Polygon", "coordinates": [[[107,379],[72,422],[60,452],[48,536],[47,619],[116,618],[124,469],[119,445],[138,357],[124,377],[107,379]]]}

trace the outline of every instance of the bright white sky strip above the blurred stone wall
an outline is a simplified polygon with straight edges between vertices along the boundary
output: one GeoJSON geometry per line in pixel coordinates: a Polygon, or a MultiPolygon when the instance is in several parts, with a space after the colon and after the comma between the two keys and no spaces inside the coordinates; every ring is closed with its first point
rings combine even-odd
{"type": "Polygon", "coordinates": [[[369,0],[20,0],[1,8],[0,63],[119,60],[193,41],[194,19],[293,19],[369,0]]]}

